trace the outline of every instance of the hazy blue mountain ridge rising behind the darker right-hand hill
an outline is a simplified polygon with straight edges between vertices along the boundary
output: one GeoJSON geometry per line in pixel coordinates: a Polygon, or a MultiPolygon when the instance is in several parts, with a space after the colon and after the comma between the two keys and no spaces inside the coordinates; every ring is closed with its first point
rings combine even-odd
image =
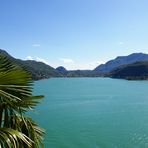
{"type": "Polygon", "coordinates": [[[148,60],[148,54],[144,53],[133,53],[128,56],[119,56],[113,60],[106,62],[105,64],[97,66],[94,69],[94,71],[108,73],[112,71],[114,68],[117,68],[118,66],[134,63],[137,61],[145,61],[145,60],[148,60]]]}

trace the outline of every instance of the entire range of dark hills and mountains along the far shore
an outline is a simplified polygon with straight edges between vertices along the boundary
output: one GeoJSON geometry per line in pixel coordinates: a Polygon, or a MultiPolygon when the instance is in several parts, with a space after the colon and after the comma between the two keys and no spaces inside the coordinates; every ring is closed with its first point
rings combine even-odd
{"type": "Polygon", "coordinates": [[[59,66],[56,69],[34,60],[20,60],[0,49],[0,55],[6,56],[14,64],[27,70],[33,80],[50,77],[112,77],[123,79],[148,79],[148,54],[133,53],[128,56],[118,56],[94,70],[67,70],[59,66]]]}

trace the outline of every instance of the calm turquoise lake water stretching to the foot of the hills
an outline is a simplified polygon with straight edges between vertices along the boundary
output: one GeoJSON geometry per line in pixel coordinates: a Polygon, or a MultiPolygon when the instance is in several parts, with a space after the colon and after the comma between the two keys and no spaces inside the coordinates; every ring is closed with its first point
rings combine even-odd
{"type": "Polygon", "coordinates": [[[148,81],[52,78],[34,94],[45,148],[148,148],[148,81]]]}

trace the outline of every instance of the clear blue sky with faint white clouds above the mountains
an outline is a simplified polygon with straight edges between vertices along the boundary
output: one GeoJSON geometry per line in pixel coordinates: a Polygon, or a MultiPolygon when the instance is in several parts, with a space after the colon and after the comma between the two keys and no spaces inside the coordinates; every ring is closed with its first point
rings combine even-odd
{"type": "Polygon", "coordinates": [[[148,53],[147,0],[0,0],[0,48],[53,67],[93,69],[148,53]]]}

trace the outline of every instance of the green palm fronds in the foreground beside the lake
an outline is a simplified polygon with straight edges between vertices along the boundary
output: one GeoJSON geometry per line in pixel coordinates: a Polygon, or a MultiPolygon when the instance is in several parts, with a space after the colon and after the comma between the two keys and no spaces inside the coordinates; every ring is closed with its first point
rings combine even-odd
{"type": "Polygon", "coordinates": [[[31,76],[0,56],[0,147],[39,148],[44,130],[25,112],[43,96],[32,96],[31,76]]]}

